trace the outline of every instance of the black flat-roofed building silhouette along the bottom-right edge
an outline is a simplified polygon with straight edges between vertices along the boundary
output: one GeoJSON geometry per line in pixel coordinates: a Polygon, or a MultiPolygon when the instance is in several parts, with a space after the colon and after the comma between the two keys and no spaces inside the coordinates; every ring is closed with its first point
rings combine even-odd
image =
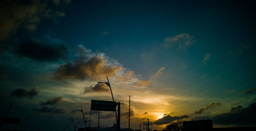
{"type": "Polygon", "coordinates": [[[218,127],[212,126],[212,120],[183,121],[183,131],[255,131],[256,127],[218,127]]]}

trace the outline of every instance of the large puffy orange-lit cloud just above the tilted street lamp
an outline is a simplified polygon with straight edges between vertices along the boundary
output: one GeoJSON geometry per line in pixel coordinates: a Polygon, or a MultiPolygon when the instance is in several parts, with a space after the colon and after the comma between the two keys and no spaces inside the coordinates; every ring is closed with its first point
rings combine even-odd
{"type": "Polygon", "coordinates": [[[103,80],[114,75],[121,66],[110,66],[102,57],[92,57],[88,62],[77,60],[74,64],[61,65],[54,73],[55,80],[103,80]]]}

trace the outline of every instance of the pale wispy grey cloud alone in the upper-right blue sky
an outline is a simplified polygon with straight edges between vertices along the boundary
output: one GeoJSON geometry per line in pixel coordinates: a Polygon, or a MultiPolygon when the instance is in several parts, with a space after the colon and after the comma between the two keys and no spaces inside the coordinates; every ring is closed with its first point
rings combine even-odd
{"type": "Polygon", "coordinates": [[[178,44],[179,49],[183,49],[183,51],[185,51],[185,49],[188,46],[196,43],[197,40],[195,40],[193,38],[194,38],[194,36],[191,36],[191,35],[189,36],[187,33],[182,33],[182,34],[178,34],[173,37],[166,37],[164,39],[164,43],[162,45],[164,47],[170,47],[170,46],[175,46],[178,44]]]}

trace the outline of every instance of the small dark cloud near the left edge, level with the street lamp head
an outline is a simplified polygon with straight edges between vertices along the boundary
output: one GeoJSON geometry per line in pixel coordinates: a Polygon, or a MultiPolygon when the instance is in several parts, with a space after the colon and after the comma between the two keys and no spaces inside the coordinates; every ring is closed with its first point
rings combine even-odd
{"type": "Polygon", "coordinates": [[[14,90],[11,93],[11,96],[15,96],[15,97],[19,97],[19,98],[23,98],[23,97],[30,97],[33,98],[33,96],[36,96],[39,93],[39,88],[31,88],[30,91],[28,91],[27,89],[24,88],[19,88],[14,90]]]}

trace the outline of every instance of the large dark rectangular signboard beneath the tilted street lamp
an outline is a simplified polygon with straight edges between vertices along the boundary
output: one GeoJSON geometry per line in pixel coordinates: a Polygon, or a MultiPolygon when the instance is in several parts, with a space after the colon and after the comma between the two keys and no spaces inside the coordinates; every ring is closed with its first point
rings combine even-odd
{"type": "Polygon", "coordinates": [[[91,110],[94,111],[116,111],[116,101],[92,100],[91,110]]]}

